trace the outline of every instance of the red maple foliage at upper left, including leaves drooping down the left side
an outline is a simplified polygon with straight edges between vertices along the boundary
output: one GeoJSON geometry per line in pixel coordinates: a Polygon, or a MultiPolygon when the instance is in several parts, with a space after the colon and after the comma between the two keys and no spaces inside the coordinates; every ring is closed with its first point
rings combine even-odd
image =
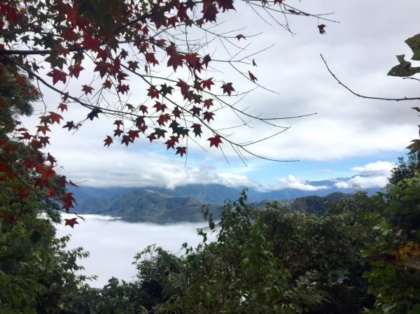
{"type": "MultiPolygon", "coordinates": [[[[303,15],[284,2],[260,0],[249,4],[273,12],[280,6],[288,14],[303,15]]],[[[35,134],[23,128],[15,130],[18,140],[31,150],[22,165],[35,176],[33,186],[20,187],[20,197],[34,189],[56,197],[67,212],[75,204],[71,194],[59,194],[59,189],[51,185],[55,180],[64,188],[71,181],[58,180],[55,158],[43,157],[40,152],[49,144],[54,124],[76,131],[85,122],[107,115],[113,117],[116,129],[105,135],[105,146],[128,146],[147,138],[150,142],[161,141],[167,150],[181,157],[188,153],[187,138],[194,136],[199,141],[206,130],[212,134],[208,138],[211,148],[220,148],[223,142],[239,146],[211,126],[221,108],[241,113],[227,100],[238,94],[236,86],[209,71],[223,60],[212,59],[213,52],[206,45],[189,41],[187,31],[198,29],[206,38],[214,36],[240,45],[249,36],[216,34],[204,28],[204,24],[217,22],[221,13],[230,10],[236,10],[233,0],[0,0],[0,66],[15,74],[23,94],[36,94],[38,90],[28,79],[21,78],[20,72],[61,97],[56,110],[48,108],[40,115],[35,134]],[[183,36],[177,32],[186,39],[180,39],[183,36]],[[171,76],[158,76],[162,68],[172,71],[171,76]],[[90,83],[85,82],[86,77],[90,83]],[[70,89],[75,81],[79,94],[70,89]],[[133,89],[144,90],[146,99],[129,103],[133,89]],[[116,102],[109,101],[111,98],[116,102]],[[69,104],[79,104],[89,111],[78,121],[68,120],[69,104]],[[50,164],[46,166],[46,162],[50,164]]],[[[321,34],[325,33],[324,27],[318,26],[321,34]]],[[[256,66],[254,59],[248,61],[249,66],[256,66]]],[[[240,73],[258,85],[255,75],[247,71],[240,73]]],[[[1,150],[14,151],[6,142],[1,143],[1,150]]],[[[3,165],[0,170],[4,180],[13,176],[13,164],[12,169],[3,165]]],[[[75,221],[66,224],[73,227],[75,221]]]]}

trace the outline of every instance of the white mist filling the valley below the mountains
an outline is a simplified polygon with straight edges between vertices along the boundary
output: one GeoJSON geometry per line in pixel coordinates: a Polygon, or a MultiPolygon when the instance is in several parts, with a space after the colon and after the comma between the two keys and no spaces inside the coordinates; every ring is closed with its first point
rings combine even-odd
{"type": "MultiPolygon", "coordinates": [[[[67,216],[63,215],[63,219],[67,216]]],[[[92,287],[103,287],[109,278],[134,280],[136,269],[132,262],[134,255],[148,245],[156,245],[182,255],[181,245],[187,242],[195,247],[202,238],[197,228],[207,227],[206,222],[182,222],[177,224],[131,223],[103,215],[85,215],[85,222],[78,219],[75,229],[58,224],[57,236],[71,235],[67,248],[83,247],[90,252],[87,259],[78,260],[85,267],[84,275],[98,276],[90,283],[92,287]]],[[[214,235],[210,239],[215,238],[214,235]]]]}

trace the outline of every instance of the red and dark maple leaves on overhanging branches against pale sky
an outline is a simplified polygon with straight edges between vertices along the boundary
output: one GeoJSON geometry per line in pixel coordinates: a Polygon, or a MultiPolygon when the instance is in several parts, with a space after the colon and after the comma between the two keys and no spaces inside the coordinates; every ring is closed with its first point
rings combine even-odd
{"type": "MultiPolygon", "coordinates": [[[[256,2],[265,8],[283,6],[284,10],[291,10],[283,1],[271,4],[266,0],[256,2]]],[[[85,117],[87,120],[94,120],[102,114],[118,115],[118,120],[121,117],[131,120],[131,125],[118,124],[113,135],[106,136],[104,145],[110,146],[116,141],[130,145],[141,134],[153,141],[157,138],[166,140],[165,134],[172,133],[180,141],[189,134],[199,136],[201,131],[197,131],[197,124],[213,134],[218,133],[209,125],[216,115],[214,101],[223,106],[225,101],[221,97],[233,96],[235,87],[231,82],[207,78],[211,55],[194,45],[186,50],[169,29],[181,31],[181,26],[202,29],[203,24],[216,22],[219,14],[235,10],[233,0],[34,0],[26,3],[25,7],[18,1],[0,3],[3,13],[0,36],[4,42],[0,45],[1,63],[7,63],[9,68],[15,66],[15,69],[27,71],[31,77],[41,78],[38,73],[39,61],[31,58],[31,55],[42,55],[43,66],[50,67],[46,73],[50,80],[43,78],[41,82],[61,94],[61,113],[68,109],[67,104],[71,101],[90,109],[85,117]],[[127,44],[131,45],[131,52],[127,50],[127,44]],[[22,50],[22,46],[27,47],[27,52],[22,50]],[[163,55],[165,57],[162,59],[163,55]],[[83,97],[69,94],[63,85],[68,84],[71,78],[80,78],[88,69],[86,64],[91,62],[94,76],[102,83],[80,84],[83,97]],[[176,80],[164,80],[157,84],[153,83],[151,71],[158,71],[159,66],[167,66],[175,73],[180,69],[183,71],[176,80]],[[144,82],[144,90],[151,102],[146,101],[138,106],[124,104],[118,110],[99,102],[98,99],[103,98],[106,92],[117,94],[119,99],[127,96],[132,88],[128,81],[130,77],[144,82]],[[217,85],[220,92],[215,90],[217,85]],[[174,100],[174,92],[181,94],[183,102],[174,100]],[[191,123],[185,125],[181,120],[191,123]],[[159,131],[156,131],[156,124],[159,131]],[[180,127],[181,124],[183,127],[180,127]]],[[[295,8],[293,10],[295,13],[290,13],[302,13],[295,8]]],[[[321,34],[323,27],[324,24],[318,26],[321,34]]],[[[247,39],[243,34],[232,38],[237,41],[247,39]]],[[[252,64],[256,65],[255,60],[252,60],[252,64]]],[[[251,71],[248,71],[247,78],[253,83],[257,81],[251,71]]],[[[50,112],[50,119],[54,124],[59,123],[62,117],[58,118],[50,112]]],[[[83,120],[66,121],[64,127],[71,131],[78,129],[81,124],[83,120]]],[[[38,131],[45,135],[49,131],[48,124],[41,125],[38,131]]],[[[169,145],[169,148],[183,155],[175,145],[169,145]]]]}

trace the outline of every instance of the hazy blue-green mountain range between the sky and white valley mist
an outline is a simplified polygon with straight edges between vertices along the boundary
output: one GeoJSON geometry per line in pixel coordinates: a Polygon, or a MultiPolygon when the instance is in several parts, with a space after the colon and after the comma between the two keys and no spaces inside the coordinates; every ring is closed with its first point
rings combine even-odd
{"type": "MultiPolygon", "coordinates": [[[[337,179],[336,179],[337,180],[337,179]]],[[[311,186],[325,186],[321,190],[305,191],[294,188],[261,192],[247,191],[248,202],[263,206],[265,201],[281,201],[295,210],[322,214],[323,201],[336,200],[353,194],[354,189],[335,187],[336,180],[312,181],[311,186]],[[324,199],[328,195],[333,196],[324,199]],[[294,201],[293,201],[294,200],[294,201]]],[[[235,200],[243,187],[225,185],[183,185],[173,190],[164,187],[71,187],[76,198],[77,213],[97,213],[106,210],[105,215],[120,217],[130,222],[197,222],[203,220],[202,208],[207,204],[217,217],[219,208],[226,199],[235,200]]],[[[365,190],[372,193],[380,188],[365,190]]]]}

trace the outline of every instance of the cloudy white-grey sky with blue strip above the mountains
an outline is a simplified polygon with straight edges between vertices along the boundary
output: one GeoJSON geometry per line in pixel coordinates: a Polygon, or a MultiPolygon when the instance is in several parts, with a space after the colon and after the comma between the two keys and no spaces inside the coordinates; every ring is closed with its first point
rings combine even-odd
{"type": "MultiPolygon", "coordinates": [[[[336,185],[347,187],[378,186],[386,181],[388,171],[398,156],[405,155],[405,147],[418,136],[418,117],[410,106],[419,101],[377,101],[353,96],[330,76],[320,55],[323,54],[336,76],[360,94],[379,97],[416,97],[418,81],[388,77],[386,73],[397,64],[395,55],[412,56],[405,45],[406,38],[419,33],[420,2],[398,1],[292,1],[311,13],[334,13],[326,17],[339,23],[318,21],[310,17],[290,18],[294,36],[273,20],[267,22],[243,4],[237,11],[220,15],[219,31],[239,29],[234,34],[260,34],[238,44],[246,47],[246,54],[274,46],[255,55],[257,67],[251,70],[258,83],[273,90],[253,90],[239,103],[251,115],[288,117],[316,113],[308,117],[282,120],[290,127],[274,138],[248,147],[252,152],[271,159],[300,162],[270,162],[248,156],[246,165],[222,145],[221,150],[206,150],[189,145],[188,159],[167,151],[161,143],[137,141],[135,145],[111,145],[104,148],[103,140],[115,129],[106,117],[85,124],[75,134],[55,125],[50,134],[50,148],[62,169],[59,171],[74,182],[91,186],[150,186],[174,187],[188,183],[223,183],[226,185],[258,186],[261,189],[297,187],[311,190],[310,180],[343,178],[336,185]],[[222,23],[223,22],[223,23],[222,23]],[[319,24],[326,24],[326,34],[318,33],[319,24]],[[365,178],[360,175],[368,175],[365,178]]],[[[281,20],[281,19],[279,19],[281,20]]],[[[214,51],[223,54],[223,49],[214,51]]],[[[235,83],[238,92],[252,87],[241,80],[227,65],[210,73],[226,82],[235,83]]],[[[77,88],[83,83],[77,82],[77,88]]],[[[133,86],[141,84],[132,80],[133,86]]],[[[72,87],[70,87],[72,88],[72,87]]],[[[76,88],[76,87],[75,87],[76,88]]],[[[142,86],[141,88],[144,89],[142,86]]],[[[45,103],[55,110],[59,99],[44,91],[45,103]]],[[[135,92],[131,101],[143,99],[135,92]]],[[[39,104],[43,106],[43,104],[39,104]]],[[[40,107],[41,108],[41,107],[40,107]]],[[[69,106],[64,120],[80,120],[87,111],[69,106]]],[[[36,124],[34,117],[23,119],[27,127],[36,124]]],[[[217,128],[231,127],[240,121],[225,110],[218,113],[217,128]]],[[[235,129],[235,141],[258,140],[276,132],[276,128],[252,121],[250,127],[235,129]]],[[[209,137],[204,134],[204,140],[209,137]]],[[[204,141],[205,142],[205,141],[204,141]]]]}

